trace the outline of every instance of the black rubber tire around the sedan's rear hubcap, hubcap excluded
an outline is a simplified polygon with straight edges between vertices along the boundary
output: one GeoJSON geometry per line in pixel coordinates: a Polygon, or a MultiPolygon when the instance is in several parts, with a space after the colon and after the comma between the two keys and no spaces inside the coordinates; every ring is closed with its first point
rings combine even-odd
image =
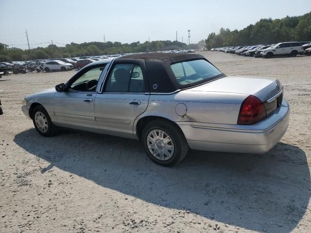
{"type": "Polygon", "coordinates": [[[141,140],[148,157],[161,166],[173,166],[178,164],[186,157],[189,150],[187,140],[181,129],[177,125],[166,120],[155,120],[147,124],[142,131],[141,140]],[[148,134],[154,130],[161,130],[172,139],[174,147],[173,155],[167,160],[156,158],[156,156],[154,156],[148,149],[148,134]]]}

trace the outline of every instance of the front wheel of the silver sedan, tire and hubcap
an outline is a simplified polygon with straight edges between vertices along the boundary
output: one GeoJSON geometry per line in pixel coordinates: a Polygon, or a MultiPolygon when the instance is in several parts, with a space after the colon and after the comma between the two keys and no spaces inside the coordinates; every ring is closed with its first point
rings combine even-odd
{"type": "Polygon", "coordinates": [[[45,137],[51,137],[55,132],[55,125],[47,111],[41,105],[33,110],[33,122],[38,133],[45,137]]]}

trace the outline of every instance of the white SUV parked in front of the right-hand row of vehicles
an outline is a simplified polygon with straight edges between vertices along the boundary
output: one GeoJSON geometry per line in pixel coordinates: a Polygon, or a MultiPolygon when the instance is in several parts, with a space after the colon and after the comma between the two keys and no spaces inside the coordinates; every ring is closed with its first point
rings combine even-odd
{"type": "Polygon", "coordinates": [[[260,54],[263,57],[271,58],[273,56],[296,56],[303,51],[304,49],[299,42],[284,42],[262,50],[260,54]]]}

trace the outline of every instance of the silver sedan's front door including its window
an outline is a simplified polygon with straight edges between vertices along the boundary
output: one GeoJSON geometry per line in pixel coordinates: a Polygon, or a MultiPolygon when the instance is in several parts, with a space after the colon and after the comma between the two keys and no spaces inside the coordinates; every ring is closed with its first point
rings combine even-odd
{"type": "Polygon", "coordinates": [[[96,88],[106,64],[88,67],[73,76],[66,92],[57,92],[53,98],[54,114],[59,124],[70,128],[98,129],[94,115],[96,88]]]}

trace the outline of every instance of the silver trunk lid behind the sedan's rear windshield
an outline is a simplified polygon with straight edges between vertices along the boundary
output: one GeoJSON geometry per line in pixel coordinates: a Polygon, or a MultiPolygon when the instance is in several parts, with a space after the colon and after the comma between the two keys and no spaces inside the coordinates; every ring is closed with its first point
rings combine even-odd
{"type": "Polygon", "coordinates": [[[254,95],[259,98],[259,100],[265,101],[275,95],[281,88],[281,84],[276,79],[265,77],[226,76],[188,90],[254,95]]]}

